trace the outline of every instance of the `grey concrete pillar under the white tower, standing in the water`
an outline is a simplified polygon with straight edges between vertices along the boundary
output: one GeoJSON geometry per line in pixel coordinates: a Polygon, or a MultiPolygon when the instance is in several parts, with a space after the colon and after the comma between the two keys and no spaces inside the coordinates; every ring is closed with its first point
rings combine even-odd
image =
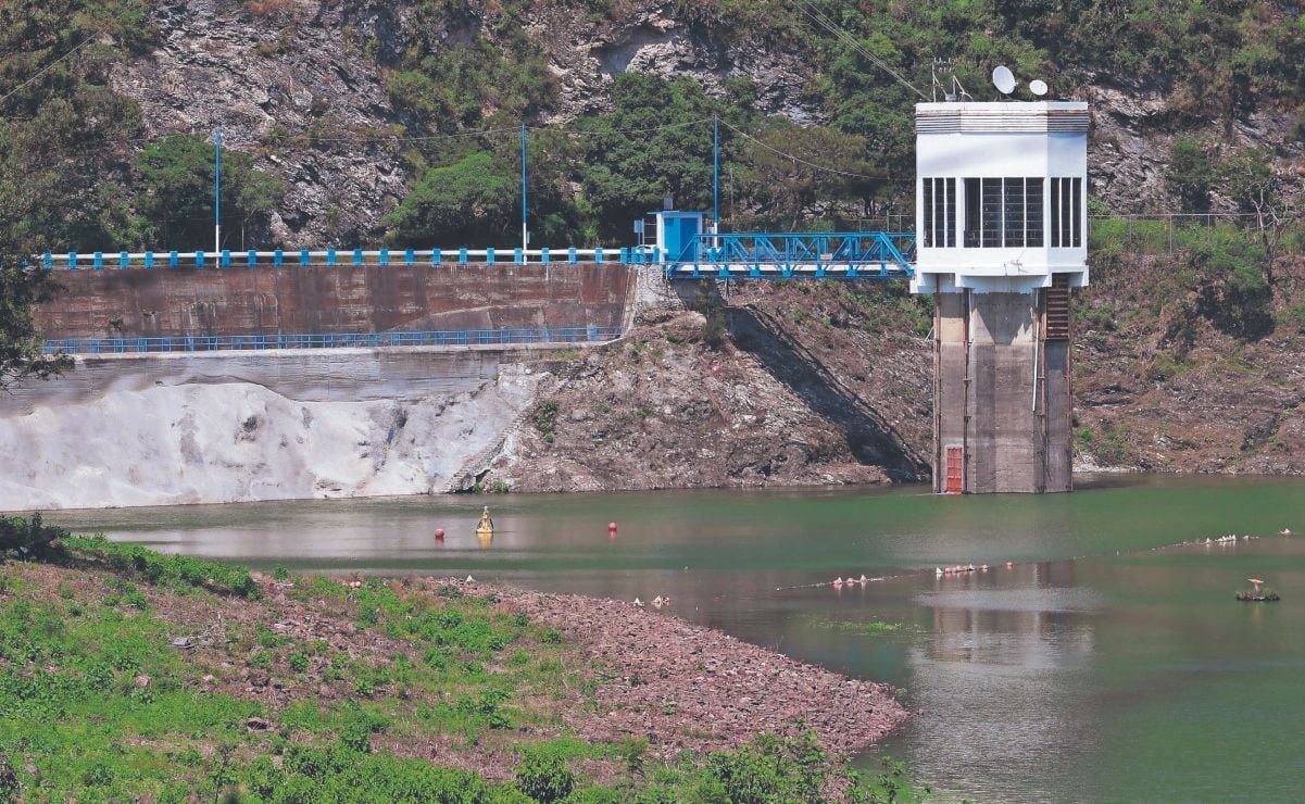
{"type": "Polygon", "coordinates": [[[1047,292],[934,295],[934,491],[1071,489],[1070,341],[1045,337],[1047,292]]]}

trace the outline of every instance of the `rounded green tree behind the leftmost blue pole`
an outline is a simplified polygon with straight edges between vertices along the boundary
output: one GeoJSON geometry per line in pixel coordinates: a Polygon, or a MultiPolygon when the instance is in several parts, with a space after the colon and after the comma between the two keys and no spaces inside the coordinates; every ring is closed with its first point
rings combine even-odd
{"type": "MultiPolygon", "coordinates": [[[[155,243],[204,248],[213,232],[213,144],[172,134],[150,142],[133,164],[140,174],[136,206],[155,243]]],[[[281,179],[253,168],[253,157],[222,150],[222,224],[235,231],[258,223],[286,194],[281,179]]]]}

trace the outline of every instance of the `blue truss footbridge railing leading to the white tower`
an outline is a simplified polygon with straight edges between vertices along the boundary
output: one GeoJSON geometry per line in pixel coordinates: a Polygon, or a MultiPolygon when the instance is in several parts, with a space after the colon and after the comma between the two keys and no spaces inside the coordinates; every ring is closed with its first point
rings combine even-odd
{"type": "Polygon", "coordinates": [[[914,277],[914,232],[731,232],[694,235],[666,275],[890,279],[914,277]]]}

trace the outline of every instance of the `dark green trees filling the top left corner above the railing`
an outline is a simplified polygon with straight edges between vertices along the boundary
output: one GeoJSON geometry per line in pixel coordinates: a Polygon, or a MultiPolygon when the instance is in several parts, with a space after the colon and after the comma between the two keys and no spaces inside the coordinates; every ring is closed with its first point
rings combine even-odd
{"type": "Polygon", "coordinates": [[[153,37],[145,0],[0,3],[0,253],[128,244],[111,176],[141,114],[108,76],[153,37]]]}

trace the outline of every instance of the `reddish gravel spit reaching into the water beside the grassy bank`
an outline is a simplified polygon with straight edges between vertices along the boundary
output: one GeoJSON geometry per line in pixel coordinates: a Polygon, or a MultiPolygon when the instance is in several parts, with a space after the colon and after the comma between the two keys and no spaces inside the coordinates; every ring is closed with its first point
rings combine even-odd
{"type": "Polygon", "coordinates": [[[493,594],[583,646],[607,679],[598,711],[573,709],[568,724],[590,740],[645,737],[651,750],[732,749],[758,734],[816,732],[848,757],[899,727],[907,710],[887,685],[848,679],[673,613],[621,600],[440,580],[466,594],[493,594]]]}

